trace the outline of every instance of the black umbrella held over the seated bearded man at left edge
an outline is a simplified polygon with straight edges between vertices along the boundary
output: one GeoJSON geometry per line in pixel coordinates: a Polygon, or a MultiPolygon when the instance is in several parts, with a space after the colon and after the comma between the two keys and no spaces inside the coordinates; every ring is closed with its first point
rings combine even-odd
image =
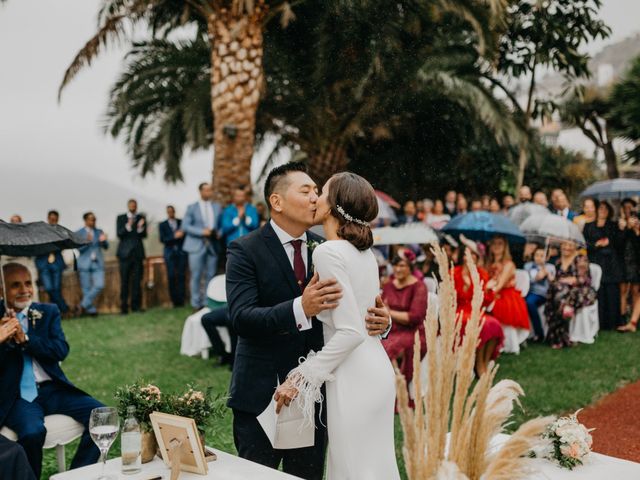
{"type": "Polygon", "coordinates": [[[87,243],[61,225],[49,225],[45,222],[7,223],[0,220],[0,276],[4,298],[7,298],[7,292],[1,262],[3,255],[34,257],[87,243]]]}

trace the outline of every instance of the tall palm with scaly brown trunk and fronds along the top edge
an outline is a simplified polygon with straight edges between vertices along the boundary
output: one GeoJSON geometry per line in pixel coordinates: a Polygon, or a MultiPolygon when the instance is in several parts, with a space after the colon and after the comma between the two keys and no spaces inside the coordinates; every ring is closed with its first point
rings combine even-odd
{"type": "MultiPolygon", "coordinates": [[[[263,23],[278,12],[284,24],[291,19],[290,6],[283,1],[267,5],[265,0],[108,0],[99,14],[98,31],[68,67],[60,93],[106,44],[130,37],[137,25],[148,26],[153,38],[162,39],[187,23],[195,24],[198,35],[206,35],[209,43],[213,186],[217,199],[226,202],[234,184],[249,182],[256,110],[264,89],[263,23]]],[[[135,158],[143,165],[153,164],[153,156],[146,161],[135,158]]]]}

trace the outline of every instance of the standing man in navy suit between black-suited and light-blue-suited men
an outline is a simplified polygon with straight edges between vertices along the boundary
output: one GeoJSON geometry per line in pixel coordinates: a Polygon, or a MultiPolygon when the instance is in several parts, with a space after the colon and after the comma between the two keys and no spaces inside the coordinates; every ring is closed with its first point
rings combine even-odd
{"type": "Polygon", "coordinates": [[[167,268],[169,297],[174,307],[184,305],[187,278],[187,254],[182,250],[184,230],[182,220],[176,218],[176,209],[167,205],[167,219],[158,224],[160,242],[164,245],[163,257],[167,268]]]}

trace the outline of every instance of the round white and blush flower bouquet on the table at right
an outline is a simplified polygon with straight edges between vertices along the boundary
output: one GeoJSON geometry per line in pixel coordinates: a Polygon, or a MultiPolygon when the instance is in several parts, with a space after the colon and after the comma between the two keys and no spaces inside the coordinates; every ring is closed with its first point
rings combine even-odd
{"type": "Polygon", "coordinates": [[[569,470],[583,464],[593,444],[590,434],[593,429],[586,428],[578,421],[578,413],[580,410],[568,417],[558,418],[542,434],[543,438],[551,441],[551,445],[541,456],[569,470]]]}

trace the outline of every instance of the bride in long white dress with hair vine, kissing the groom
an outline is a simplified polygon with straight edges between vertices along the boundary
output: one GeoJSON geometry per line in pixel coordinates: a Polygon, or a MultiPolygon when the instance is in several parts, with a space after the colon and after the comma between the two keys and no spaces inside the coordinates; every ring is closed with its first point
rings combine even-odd
{"type": "Polygon", "coordinates": [[[378,266],[370,250],[369,222],[378,213],[373,187],[353,173],[331,177],[318,199],[316,220],[327,241],[313,251],[320,279],[335,278],[343,297],[322,312],[325,344],[289,373],[276,391],[278,408],[299,396],[312,421],[326,382],[329,480],[400,478],[393,421],[394,372],[377,337],[367,335],[367,309],[379,294],[378,266]]]}

